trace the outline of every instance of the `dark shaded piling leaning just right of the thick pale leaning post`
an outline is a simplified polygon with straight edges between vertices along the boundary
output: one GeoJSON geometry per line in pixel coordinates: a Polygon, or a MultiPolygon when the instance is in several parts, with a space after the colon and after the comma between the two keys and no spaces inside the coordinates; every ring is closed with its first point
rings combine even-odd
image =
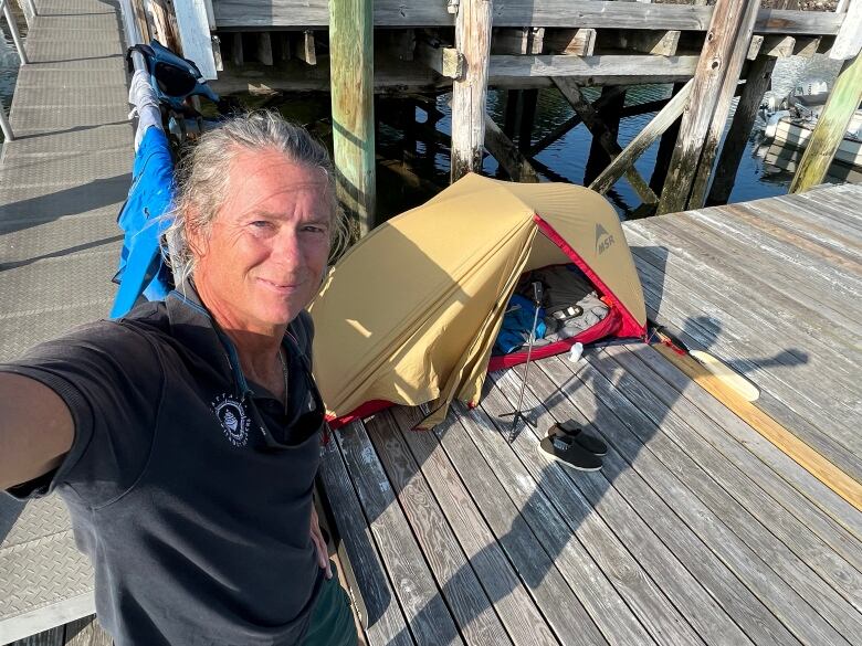
{"type": "Polygon", "coordinates": [[[775,63],[774,56],[760,54],[748,70],[748,80],[745,82],[743,96],[739,97],[736,113],[730,123],[730,130],[727,133],[724,146],[722,146],[715,179],[709,189],[708,204],[726,204],[730,197],[739,161],[743,159],[743,152],[757,118],[757,110],[764,100],[764,93],[769,89],[775,63]]]}

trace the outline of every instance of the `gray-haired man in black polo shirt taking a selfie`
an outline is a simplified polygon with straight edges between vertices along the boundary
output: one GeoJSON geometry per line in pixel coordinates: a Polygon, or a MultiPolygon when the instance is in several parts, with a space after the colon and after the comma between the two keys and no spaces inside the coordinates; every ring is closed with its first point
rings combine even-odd
{"type": "Polygon", "coordinates": [[[262,114],[178,179],[177,290],[0,367],[0,487],[64,498],[118,646],[356,644],[312,504],[330,162],[262,114]]]}

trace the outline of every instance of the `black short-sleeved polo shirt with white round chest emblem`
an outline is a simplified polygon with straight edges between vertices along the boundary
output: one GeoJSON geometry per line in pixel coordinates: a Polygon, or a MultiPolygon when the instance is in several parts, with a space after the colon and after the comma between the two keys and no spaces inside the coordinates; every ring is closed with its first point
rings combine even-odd
{"type": "Polygon", "coordinates": [[[323,581],[309,538],[323,410],[311,317],[284,346],[288,411],[245,383],[235,350],[190,287],[43,343],[0,370],[69,405],[75,440],[53,474],[96,573],[118,646],[296,644],[323,581]],[[251,402],[276,440],[267,448],[251,402]]]}

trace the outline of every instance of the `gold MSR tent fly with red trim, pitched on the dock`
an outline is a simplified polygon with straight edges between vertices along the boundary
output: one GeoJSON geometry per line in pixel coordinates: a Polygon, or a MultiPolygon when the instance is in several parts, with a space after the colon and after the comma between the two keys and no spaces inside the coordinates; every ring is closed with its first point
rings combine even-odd
{"type": "Polygon", "coordinates": [[[375,229],[308,308],[333,425],[390,403],[430,402],[422,425],[431,427],[453,399],[475,405],[518,278],[563,263],[575,263],[610,305],[602,336],[643,336],[643,292],[619,218],[582,187],[469,174],[375,229]]]}

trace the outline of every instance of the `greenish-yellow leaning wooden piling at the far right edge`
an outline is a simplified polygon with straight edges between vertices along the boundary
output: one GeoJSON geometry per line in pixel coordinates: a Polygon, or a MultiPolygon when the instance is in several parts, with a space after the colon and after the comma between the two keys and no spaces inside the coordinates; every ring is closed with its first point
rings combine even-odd
{"type": "Polygon", "coordinates": [[[790,182],[791,193],[801,193],[823,182],[847,133],[853,113],[862,102],[862,54],[847,61],[811,133],[799,168],[790,182]]]}

